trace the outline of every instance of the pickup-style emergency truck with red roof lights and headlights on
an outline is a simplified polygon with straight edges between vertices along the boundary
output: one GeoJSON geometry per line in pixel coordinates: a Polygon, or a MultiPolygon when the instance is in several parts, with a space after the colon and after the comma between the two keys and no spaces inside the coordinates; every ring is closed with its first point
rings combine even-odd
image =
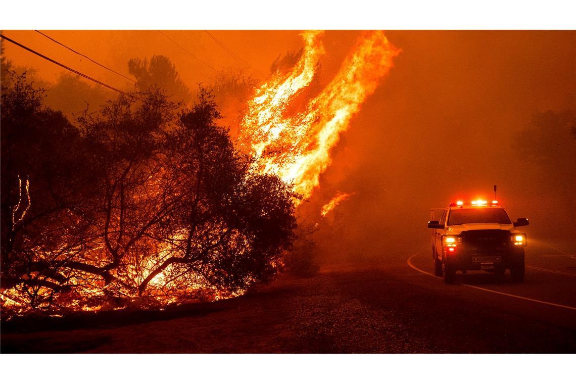
{"type": "Polygon", "coordinates": [[[528,219],[512,222],[497,200],[457,201],[430,210],[434,275],[453,283],[456,272],[487,271],[524,281],[526,234],[517,228],[528,219]]]}

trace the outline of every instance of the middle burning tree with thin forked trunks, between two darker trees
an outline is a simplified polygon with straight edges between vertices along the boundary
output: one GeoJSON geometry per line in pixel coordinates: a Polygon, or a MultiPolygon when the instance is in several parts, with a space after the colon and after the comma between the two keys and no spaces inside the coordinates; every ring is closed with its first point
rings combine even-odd
{"type": "Polygon", "coordinates": [[[165,180],[163,162],[176,108],[160,90],[150,89],[122,95],[98,115],[86,113],[79,119],[91,143],[92,162],[103,173],[94,206],[101,233],[100,265],[90,272],[104,278],[111,294],[134,292],[143,273],[141,261],[158,252],[146,234],[173,204],[174,181],[165,180]]]}

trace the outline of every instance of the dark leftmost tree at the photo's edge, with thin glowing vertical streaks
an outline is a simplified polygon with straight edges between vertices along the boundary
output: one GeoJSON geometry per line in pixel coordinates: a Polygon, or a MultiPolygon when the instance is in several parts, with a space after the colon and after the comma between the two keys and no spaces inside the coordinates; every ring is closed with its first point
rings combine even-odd
{"type": "Polygon", "coordinates": [[[97,172],[77,128],[42,106],[43,90],[25,75],[12,85],[1,108],[2,287],[20,284],[35,306],[66,287],[59,267],[89,246],[97,172]]]}

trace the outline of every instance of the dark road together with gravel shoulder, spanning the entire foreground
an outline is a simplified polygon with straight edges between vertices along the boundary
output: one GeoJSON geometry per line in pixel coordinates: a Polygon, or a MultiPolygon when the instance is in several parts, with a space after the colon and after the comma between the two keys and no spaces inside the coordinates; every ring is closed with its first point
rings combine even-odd
{"type": "MultiPolygon", "coordinates": [[[[425,245],[422,245],[424,249],[425,245]]],[[[574,250],[530,242],[526,282],[446,285],[427,251],[382,253],[240,298],[3,325],[2,352],[576,352],[574,250]],[[43,329],[40,329],[43,328],[43,329]]]]}

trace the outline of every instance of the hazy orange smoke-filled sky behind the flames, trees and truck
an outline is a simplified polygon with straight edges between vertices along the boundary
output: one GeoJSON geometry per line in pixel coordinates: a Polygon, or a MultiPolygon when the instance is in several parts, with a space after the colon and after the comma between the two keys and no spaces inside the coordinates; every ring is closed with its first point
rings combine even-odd
{"type": "MultiPolygon", "coordinates": [[[[298,31],[211,31],[239,64],[203,31],[164,32],[206,64],[157,31],[46,31],[123,74],[131,58],[168,56],[190,88],[210,81],[210,67],[244,65],[263,81],[275,58],[303,45],[298,31]]],[[[3,33],[101,81],[130,85],[39,33],[3,33]]],[[[430,208],[456,199],[491,199],[494,184],[513,219],[530,219],[529,238],[554,238],[574,251],[576,139],[569,126],[570,111],[576,111],[576,32],[385,34],[401,53],[342,134],[321,187],[304,208],[319,211],[336,191],[354,193],[327,218],[317,218],[317,238],[328,244],[326,253],[374,256],[384,248],[427,246],[430,208]],[[538,143],[523,138],[536,137],[534,127],[550,132],[546,145],[563,154],[562,162],[554,165],[554,156],[542,164],[529,158],[538,143]]],[[[321,83],[334,76],[360,35],[325,33],[321,83]]],[[[9,43],[5,49],[14,66],[33,67],[46,81],[55,82],[61,73],[9,43]]]]}

